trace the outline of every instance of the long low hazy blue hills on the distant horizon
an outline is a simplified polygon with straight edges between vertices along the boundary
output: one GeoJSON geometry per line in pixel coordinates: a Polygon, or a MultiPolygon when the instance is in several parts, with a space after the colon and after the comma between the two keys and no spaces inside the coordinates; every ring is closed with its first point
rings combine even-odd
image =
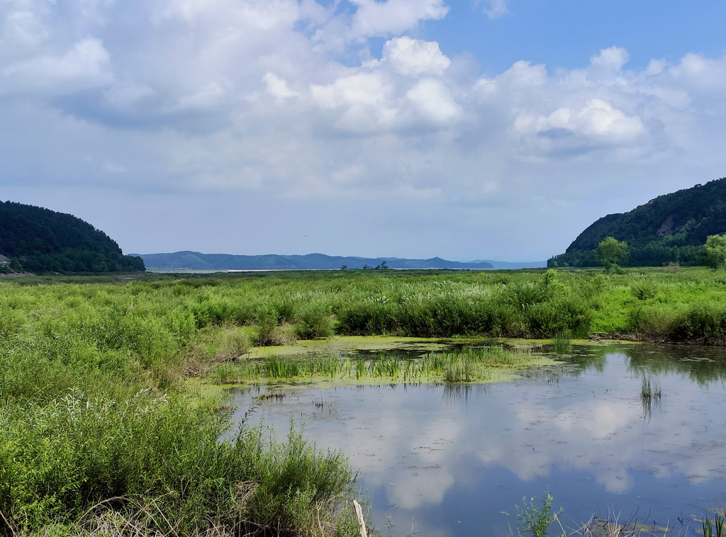
{"type": "Polygon", "coordinates": [[[492,263],[459,263],[441,258],[358,258],[311,253],[308,255],[232,255],[227,253],[141,254],[150,269],[186,270],[313,270],[313,269],[492,269],[492,263]],[[384,265],[385,263],[385,265],[384,265]]]}

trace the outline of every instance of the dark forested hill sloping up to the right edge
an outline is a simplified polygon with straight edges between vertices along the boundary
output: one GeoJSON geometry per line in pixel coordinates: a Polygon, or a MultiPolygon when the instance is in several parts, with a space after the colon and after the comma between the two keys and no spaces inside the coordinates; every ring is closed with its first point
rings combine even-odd
{"type": "Polygon", "coordinates": [[[629,266],[701,264],[706,237],[726,232],[726,179],[658,196],[627,213],[603,216],[555,255],[548,266],[595,266],[605,237],[629,246],[629,266]]]}

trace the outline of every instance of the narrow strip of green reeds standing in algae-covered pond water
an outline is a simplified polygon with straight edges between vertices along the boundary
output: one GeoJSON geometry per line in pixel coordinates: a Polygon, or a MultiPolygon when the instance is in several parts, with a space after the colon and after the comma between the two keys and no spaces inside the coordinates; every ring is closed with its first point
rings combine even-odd
{"type": "Polygon", "coordinates": [[[382,355],[371,360],[352,360],[333,355],[288,358],[270,356],[262,360],[220,364],[211,374],[216,384],[265,382],[304,378],[386,379],[393,382],[476,382],[490,377],[492,369],[517,369],[537,358],[529,351],[501,347],[467,348],[423,358],[382,355]]]}

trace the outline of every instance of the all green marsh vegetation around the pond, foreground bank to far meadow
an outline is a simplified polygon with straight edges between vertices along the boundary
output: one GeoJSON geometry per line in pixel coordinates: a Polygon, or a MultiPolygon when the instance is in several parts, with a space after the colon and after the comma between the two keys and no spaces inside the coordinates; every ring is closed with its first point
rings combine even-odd
{"type": "Polygon", "coordinates": [[[726,343],[726,276],[700,269],[15,278],[0,282],[0,305],[8,535],[354,535],[346,461],[294,432],[272,440],[243,427],[220,443],[220,401],[200,401],[184,379],[470,382],[531,359],[234,362],[251,345],[335,334],[559,337],[564,352],[569,337],[592,331],[726,343]]]}

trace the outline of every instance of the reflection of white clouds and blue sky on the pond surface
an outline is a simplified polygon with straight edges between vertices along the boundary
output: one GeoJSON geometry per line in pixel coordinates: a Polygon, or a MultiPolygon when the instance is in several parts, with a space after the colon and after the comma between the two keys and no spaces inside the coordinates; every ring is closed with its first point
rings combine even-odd
{"type": "Polygon", "coordinates": [[[561,482],[559,501],[590,509],[613,495],[655,504],[666,488],[678,489],[682,506],[707,507],[699,502],[709,493],[698,486],[723,488],[726,477],[726,423],[719,408],[724,386],[704,385],[703,375],[689,374],[685,362],[658,363],[652,371],[663,401],[646,419],[642,358],[603,351],[593,362],[597,367],[582,366],[558,382],[532,377],[457,390],[292,390],[282,402],[264,403],[264,421],[285,430],[290,416],[301,420],[319,447],[351,457],[374,507],[423,518],[429,509],[448,509],[461,518],[465,496],[483,511],[512,509],[518,491],[542,493],[534,480],[561,482]],[[309,403],[321,395],[323,411],[309,403]],[[580,485],[563,475],[590,483],[585,495],[575,496],[580,485]]]}

